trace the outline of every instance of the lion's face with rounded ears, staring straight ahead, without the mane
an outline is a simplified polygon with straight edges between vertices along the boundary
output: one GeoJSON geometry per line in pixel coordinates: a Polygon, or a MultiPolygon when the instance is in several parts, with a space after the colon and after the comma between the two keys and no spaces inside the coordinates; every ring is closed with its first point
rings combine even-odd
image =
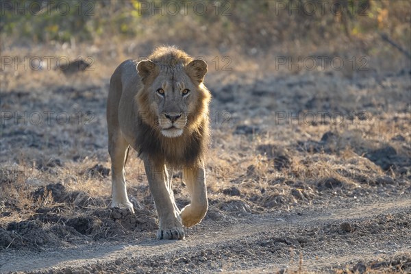
{"type": "Polygon", "coordinates": [[[202,60],[173,67],[162,67],[151,61],[138,64],[138,73],[150,102],[149,109],[155,114],[155,117],[151,117],[156,120],[153,125],[163,136],[182,136],[190,114],[195,112],[197,102],[200,101],[203,92],[200,85],[206,71],[207,65],[202,60]]]}

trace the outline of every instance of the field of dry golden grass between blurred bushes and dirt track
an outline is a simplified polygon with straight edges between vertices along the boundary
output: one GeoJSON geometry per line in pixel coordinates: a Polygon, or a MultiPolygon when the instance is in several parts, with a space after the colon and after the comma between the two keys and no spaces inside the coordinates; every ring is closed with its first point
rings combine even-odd
{"type": "MultiPolygon", "coordinates": [[[[182,42],[190,54],[204,56],[210,69],[206,77],[214,97],[212,147],[206,161],[210,218],[303,210],[344,199],[379,199],[409,191],[410,62],[389,47],[362,51],[355,41],[346,43],[356,45],[358,51],[352,52],[342,40],[306,46],[285,41],[272,45],[270,55],[182,42]],[[275,56],[284,52],[291,58],[366,55],[371,62],[368,71],[336,71],[329,64],[314,71],[277,68],[275,56]],[[229,71],[221,67],[225,56],[232,60],[229,71]],[[214,58],[219,58],[220,66],[215,67],[214,58]],[[310,119],[313,114],[314,122],[310,119]]],[[[375,37],[364,40],[375,41],[375,37]]],[[[178,40],[171,41],[178,44],[178,40]]],[[[53,67],[33,71],[6,66],[1,71],[0,228],[7,229],[12,222],[33,222],[33,216],[57,214],[64,220],[46,222],[41,228],[51,231],[61,229],[55,225],[70,227],[70,220],[77,224],[90,219],[86,228],[77,228],[91,239],[108,241],[134,232],[136,227],[127,227],[127,222],[144,220],[147,227],[155,226],[153,199],[135,151],[130,153],[125,172],[137,216],[99,210],[110,204],[111,192],[110,175],[105,174],[110,168],[105,124],[110,75],[123,60],[146,56],[151,47],[163,42],[165,38],[153,35],[138,42],[114,38],[110,45],[97,39],[95,45],[75,47],[68,43],[29,49],[1,47],[2,56],[19,60],[91,56],[95,70],[65,75],[53,67]],[[4,116],[44,111],[54,112],[52,125],[46,121],[25,124],[14,116],[4,116]],[[68,123],[57,123],[60,112],[69,114],[68,123]],[[96,165],[101,169],[93,171],[96,165]],[[53,192],[60,185],[64,195],[53,192]],[[118,215],[116,229],[110,229],[112,214],[118,215]]],[[[181,174],[175,171],[174,175],[177,203],[185,206],[188,193],[181,174]]],[[[75,232],[64,233],[79,237],[75,232]]],[[[0,242],[0,248],[24,246],[24,239],[17,234],[11,242],[7,240],[0,242]]],[[[295,267],[288,272],[306,273],[303,256],[293,260],[290,265],[295,267]]],[[[391,271],[370,269],[372,265],[366,264],[367,273],[391,271]]],[[[348,267],[337,273],[356,270],[348,267]]]]}

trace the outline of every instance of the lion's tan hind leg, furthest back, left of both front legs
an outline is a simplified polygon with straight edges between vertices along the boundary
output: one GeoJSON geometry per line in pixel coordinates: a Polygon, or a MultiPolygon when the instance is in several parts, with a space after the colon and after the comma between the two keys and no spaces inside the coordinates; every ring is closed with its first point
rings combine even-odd
{"type": "Polygon", "coordinates": [[[127,149],[129,144],[121,132],[116,132],[109,137],[108,151],[112,162],[112,208],[120,208],[124,206],[132,212],[133,205],[127,197],[127,189],[125,188],[125,171],[124,165],[127,157],[127,149]]]}

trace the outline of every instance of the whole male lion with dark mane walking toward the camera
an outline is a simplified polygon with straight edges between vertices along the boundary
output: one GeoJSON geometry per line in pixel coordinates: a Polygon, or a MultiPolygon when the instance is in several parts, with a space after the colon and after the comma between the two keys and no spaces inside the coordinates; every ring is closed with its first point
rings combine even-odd
{"type": "Polygon", "coordinates": [[[108,151],[112,161],[112,207],[125,206],[124,165],[131,146],[142,158],[159,219],[158,239],[184,239],[184,227],[199,223],[208,209],[204,153],[208,147],[210,91],[207,64],[175,47],[160,47],[148,60],[127,60],[110,79],[108,151]],[[167,172],[182,167],[191,203],[175,204],[167,172]]]}

